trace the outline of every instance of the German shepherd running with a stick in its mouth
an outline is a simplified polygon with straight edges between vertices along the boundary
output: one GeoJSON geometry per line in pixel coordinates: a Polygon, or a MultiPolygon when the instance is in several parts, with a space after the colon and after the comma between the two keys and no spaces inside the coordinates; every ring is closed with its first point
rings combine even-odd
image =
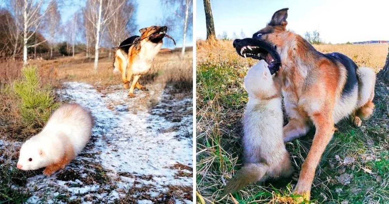
{"type": "Polygon", "coordinates": [[[138,80],[142,74],[150,70],[154,57],[162,47],[166,31],[166,26],[142,28],[139,30],[140,36],[131,36],[119,45],[114,58],[114,72],[120,71],[124,88],[130,88],[129,97],[134,97],[135,88],[147,91],[138,80]],[[130,86],[132,75],[134,77],[130,86]]]}

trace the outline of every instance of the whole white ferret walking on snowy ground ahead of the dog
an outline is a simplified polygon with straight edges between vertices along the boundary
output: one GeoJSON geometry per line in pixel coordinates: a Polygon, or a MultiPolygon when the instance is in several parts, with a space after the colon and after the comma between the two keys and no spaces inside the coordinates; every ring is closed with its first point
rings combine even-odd
{"type": "Polygon", "coordinates": [[[43,173],[47,176],[63,169],[88,143],[92,127],[89,111],[74,103],[62,105],[44,129],[22,145],[18,169],[46,167],[43,173]]]}

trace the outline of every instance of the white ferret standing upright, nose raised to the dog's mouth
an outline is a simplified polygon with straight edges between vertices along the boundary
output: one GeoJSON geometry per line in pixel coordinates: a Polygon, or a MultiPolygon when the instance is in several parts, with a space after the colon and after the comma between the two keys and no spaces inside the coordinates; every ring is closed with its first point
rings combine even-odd
{"type": "Polygon", "coordinates": [[[243,117],[244,166],[227,183],[224,194],[252,182],[293,173],[283,139],[284,119],[278,80],[273,80],[264,60],[247,72],[244,84],[249,102],[243,117]]]}

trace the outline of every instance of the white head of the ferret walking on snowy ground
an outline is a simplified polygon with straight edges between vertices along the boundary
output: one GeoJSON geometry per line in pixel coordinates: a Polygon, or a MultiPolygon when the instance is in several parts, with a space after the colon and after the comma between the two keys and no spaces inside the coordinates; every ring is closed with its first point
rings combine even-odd
{"type": "Polygon", "coordinates": [[[46,153],[42,148],[39,140],[31,138],[27,140],[19,152],[18,169],[21,170],[36,170],[47,166],[48,160],[46,153]]]}

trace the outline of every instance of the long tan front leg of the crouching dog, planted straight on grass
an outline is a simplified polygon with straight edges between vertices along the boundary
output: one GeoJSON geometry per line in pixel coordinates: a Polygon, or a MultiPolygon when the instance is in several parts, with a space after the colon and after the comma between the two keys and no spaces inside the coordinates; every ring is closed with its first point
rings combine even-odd
{"type": "Polygon", "coordinates": [[[312,121],[316,127],[316,133],[307,158],[301,166],[300,177],[294,188],[296,194],[303,195],[306,200],[310,199],[311,186],[315,177],[316,167],[320,162],[326,146],[331,140],[335,127],[331,111],[321,111],[312,115],[312,121]]]}

